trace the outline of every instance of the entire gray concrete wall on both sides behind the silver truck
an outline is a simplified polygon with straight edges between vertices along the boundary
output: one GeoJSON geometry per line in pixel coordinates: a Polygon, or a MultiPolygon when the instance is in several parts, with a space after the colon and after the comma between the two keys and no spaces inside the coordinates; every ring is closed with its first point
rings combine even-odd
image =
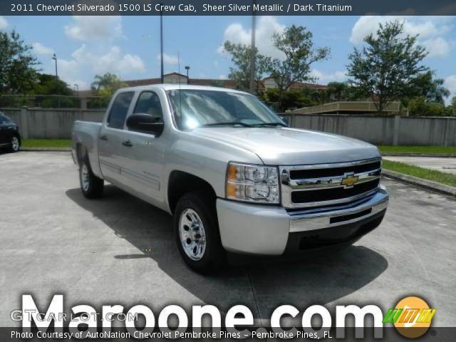
{"type": "MultiPolygon", "coordinates": [[[[0,108],[27,138],[71,138],[75,120],[100,123],[104,110],[0,108]]],[[[368,115],[283,115],[296,128],[319,130],[375,145],[456,146],[456,118],[375,117],[368,115]]]]}

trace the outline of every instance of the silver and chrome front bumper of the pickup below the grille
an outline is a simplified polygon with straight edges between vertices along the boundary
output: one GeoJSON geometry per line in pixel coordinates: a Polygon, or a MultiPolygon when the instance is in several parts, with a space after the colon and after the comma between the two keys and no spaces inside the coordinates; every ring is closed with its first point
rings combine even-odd
{"type": "Polygon", "coordinates": [[[283,254],[290,234],[323,232],[374,219],[388,207],[388,193],[379,187],[375,195],[358,202],[287,212],[284,207],[246,204],[217,199],[220,237],[225,249],[249,254],[283,254]]]}

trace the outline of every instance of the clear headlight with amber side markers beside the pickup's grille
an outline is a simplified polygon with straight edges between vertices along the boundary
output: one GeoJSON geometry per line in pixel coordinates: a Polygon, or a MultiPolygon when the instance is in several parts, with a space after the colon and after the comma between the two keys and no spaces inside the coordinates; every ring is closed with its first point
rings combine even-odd
{"type": "Polygon", "coordinates": [[[229,199],[279,204],[277,168],[230,162],[226,189],[229,199]]]}

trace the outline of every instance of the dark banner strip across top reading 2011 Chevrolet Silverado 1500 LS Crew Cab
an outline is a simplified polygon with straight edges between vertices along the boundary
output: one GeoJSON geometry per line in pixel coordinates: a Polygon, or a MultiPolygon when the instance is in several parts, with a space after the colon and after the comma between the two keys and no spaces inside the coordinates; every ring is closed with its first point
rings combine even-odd
{"type": "Polygon", "coordinates": [[[1,16],[454,16],[455,0],[2,0],[1,16]]]}

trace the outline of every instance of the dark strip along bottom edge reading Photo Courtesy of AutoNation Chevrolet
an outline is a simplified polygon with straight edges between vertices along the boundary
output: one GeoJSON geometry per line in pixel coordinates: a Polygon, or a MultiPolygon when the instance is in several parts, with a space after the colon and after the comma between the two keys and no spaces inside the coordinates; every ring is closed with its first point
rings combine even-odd
{"type": "MultiPolygon", "coordinates": [[[[381,328],[381,337],[375,335],[377,328],[343,328],[343,335],[338,335],[336,328],[321,329],[314,332],[302,329],[291,332],[286,328],[275,332],[269,327],[238,327],[237,331],[230,331],[226,328],[200,328],[195,331],[191,328],[183,331],[169,329],[163,331],[154,328],[150,331],[128,331],[125,328],[111,328],[109,331],[100,329],[81,331],[75,333],[68,328],[62,331],[55,331],[49,328],[47,331],[38,331],[33,328],[31,332],[24,332],[21,328],[0,328],[1,342],[58,342],[58,341],[90,341],[90,342],[120,342],[120,341],[388,341],[408,342],[414,341],[400,335],[393,327],[381,328]]],[[[413,329],[413,328],[412,328],[413,329]]],[[[430,327],[423,336],[416,338],[420,342],[449,342],[455,340],[456,328],[430,327]]]]}

